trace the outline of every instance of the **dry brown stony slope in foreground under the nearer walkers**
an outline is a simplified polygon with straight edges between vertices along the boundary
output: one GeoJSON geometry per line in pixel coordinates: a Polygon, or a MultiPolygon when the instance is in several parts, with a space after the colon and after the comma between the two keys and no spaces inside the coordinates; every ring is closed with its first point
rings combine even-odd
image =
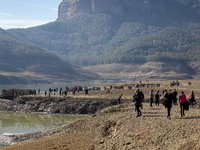
{"type": "Polygon", "coordinates": [[[3,150],[200,150],[200,109],[180,117],[180,106],[167,110],[144,104],[136,118],[134,104],[100,110],[62,128],[64,135],[2,148],[3,150]]]}

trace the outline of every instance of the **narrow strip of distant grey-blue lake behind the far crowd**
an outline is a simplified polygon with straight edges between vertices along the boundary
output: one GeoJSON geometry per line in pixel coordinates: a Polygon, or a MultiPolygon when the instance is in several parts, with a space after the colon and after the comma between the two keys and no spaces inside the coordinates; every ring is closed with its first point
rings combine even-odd
{"type": "Polygon", "coordinates": [[[87,87],[95,87],[98,86],[99,83],[56,83],[56,84],[17,84],[17,85],[0,85],[0,94],[2,94],[3,89],[35,89],[36,91],[40,89],[41,92],[48,91],[49,88],[62,88],[63,90],[66,89],[66,86],[73,87],[73,86],[87,86],[87,87]]]}

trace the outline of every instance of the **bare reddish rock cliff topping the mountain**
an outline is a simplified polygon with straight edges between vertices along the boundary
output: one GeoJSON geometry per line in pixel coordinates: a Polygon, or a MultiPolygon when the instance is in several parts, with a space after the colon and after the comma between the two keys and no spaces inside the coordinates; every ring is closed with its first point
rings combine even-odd
{"type": "MultiPolygon", "coordinates": [[[[183,5],[198,4],[198,0],[168,0],[178,2],[183,5]]],[[[160,2],[159,2],[160,3],[160,2]]],[[[119,17],[124,16],[124,12],[129,9],[140,9],[151,12],[158,4],[156,0],[63,0],[59,6],[58,18],[72,18],[78,14],[89,13],[112,13],[119,17]]]]}

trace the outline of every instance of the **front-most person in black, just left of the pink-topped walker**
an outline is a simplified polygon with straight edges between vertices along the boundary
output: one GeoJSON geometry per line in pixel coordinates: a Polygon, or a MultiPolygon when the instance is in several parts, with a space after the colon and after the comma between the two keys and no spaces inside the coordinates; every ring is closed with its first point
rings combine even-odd
{"type": "Polygon", "coordinates": [[[167,118],[171,119],[170,112],[171,112],[172,101],[173,101],[173,94],[171,90],[169,90],[169,93],[165,94],[164,100],[165,100],[165,108],[167,108],[167,113],[168,113],[167,118]]]}

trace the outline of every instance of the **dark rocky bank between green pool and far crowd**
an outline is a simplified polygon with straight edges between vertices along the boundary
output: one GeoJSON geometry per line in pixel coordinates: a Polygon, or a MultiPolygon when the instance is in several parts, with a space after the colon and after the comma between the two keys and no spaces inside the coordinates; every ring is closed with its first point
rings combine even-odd
{"type": "Polygon", "coordinates": [[[98,110],[116,105],[117,101],[103,99],[73,99],[53,97],[19,97],[15,101],[1,100],[1,112],[47,114],[94,114],[98,110]]]}

